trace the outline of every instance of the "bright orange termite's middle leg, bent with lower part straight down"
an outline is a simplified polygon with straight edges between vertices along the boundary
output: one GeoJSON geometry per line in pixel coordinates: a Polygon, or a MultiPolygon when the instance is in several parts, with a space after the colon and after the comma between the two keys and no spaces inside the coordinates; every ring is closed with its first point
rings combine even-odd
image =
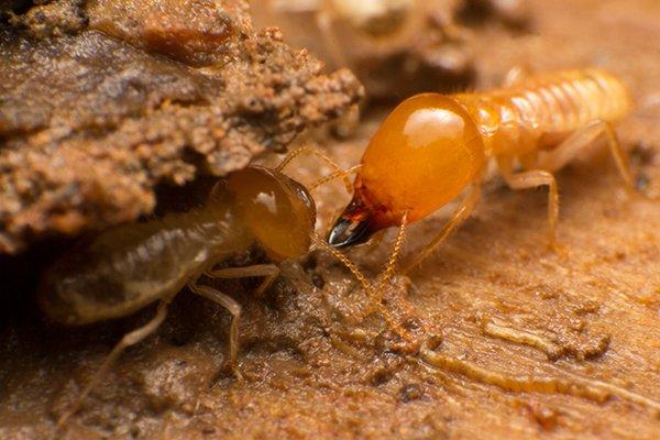
{"type": "Polygon", "coordinates": [[[557,221],[559,218],[559,190],[554,176],[547,170],[535,169],[529,172],[514,173],[513,158],[510,156],[497,157],[497,164],[502,175],[512,189],[528,189],[538,186],[548,186],[548,222],[550,248],[557,246],[557,221]]]}

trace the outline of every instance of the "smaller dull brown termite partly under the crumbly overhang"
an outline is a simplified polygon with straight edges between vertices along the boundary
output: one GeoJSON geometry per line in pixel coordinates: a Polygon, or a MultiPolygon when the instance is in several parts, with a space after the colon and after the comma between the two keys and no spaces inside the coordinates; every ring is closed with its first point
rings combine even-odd
{"type": "MultiPolygon", "coordinates": [[[[210,278],[263,276],[264,280],[256,289],[257,295],[262,294],[277,277],[276,265],[215,266],[245,252],[254,242],[261,243],[274,261],[309,252],[316,238],[316,205],[309,191],[337,177],[344,177],[350,189],[345,173],[322,153],[304,147],[289,154],[274,169],[249,166],[230,174],[215,185],[208,201],[200,208],[118,226],[57,260],[44,274],[38,293],[41,308],[53,321],[67,326],[89,324],[125,317],[160,301],[155,316],[143,327],[127,333],[112,349],[58,425],[64,425],[77,411],[95,384],[128,346],[156,331],[165,320],[167,305],[185,286],[232,315],[229,366],[240,377],[237,356],[241,306],[222,292],[199,284],[198,278],[201,275],[210,278]],[[283,174],[283,168],[301,153],[317,155],[331,164],[334,173],[319,179],[308,190],[283,174]]],[[[346,258],[342,261],[353,268],[346,258]]],[[[355,274],[364,279],[360,273],[355,274]]]]}

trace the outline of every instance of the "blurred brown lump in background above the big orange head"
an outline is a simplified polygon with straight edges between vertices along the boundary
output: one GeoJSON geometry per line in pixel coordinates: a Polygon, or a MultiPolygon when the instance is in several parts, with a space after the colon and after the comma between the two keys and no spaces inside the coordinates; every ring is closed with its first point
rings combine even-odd
{"type": "Polygon", "coordinates": [[[473,28],[499,23],[510,35],[529,23],[527,0],[254,0],[254,20],[282,28],[287,43],[330,66],[346,66],[367,97],[397,100],[472,84],[473,28]]]}

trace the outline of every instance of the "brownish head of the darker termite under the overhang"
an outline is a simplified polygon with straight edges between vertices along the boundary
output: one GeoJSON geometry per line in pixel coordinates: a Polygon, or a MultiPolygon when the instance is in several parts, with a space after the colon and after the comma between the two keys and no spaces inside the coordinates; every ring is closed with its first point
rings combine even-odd
{"type": "Polygon", "coordinates": [[[232,173],[227,189],[249,230],[271,256],[284,260],[309,251],[316,206],[302,185],[279,172],[251,166],[232,173]]]}

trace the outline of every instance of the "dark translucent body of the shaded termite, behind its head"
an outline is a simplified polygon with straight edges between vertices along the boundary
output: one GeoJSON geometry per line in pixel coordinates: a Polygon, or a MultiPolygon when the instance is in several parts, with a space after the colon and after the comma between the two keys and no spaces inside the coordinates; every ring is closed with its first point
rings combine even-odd
{"type": "Polygon", "coordinates": [[[57,261],[40,292],[53,319],[81,324],[127,316],[175,295],[211,260],[249,239],[231,211],[196,210],[110,229],[57,261]]]}

